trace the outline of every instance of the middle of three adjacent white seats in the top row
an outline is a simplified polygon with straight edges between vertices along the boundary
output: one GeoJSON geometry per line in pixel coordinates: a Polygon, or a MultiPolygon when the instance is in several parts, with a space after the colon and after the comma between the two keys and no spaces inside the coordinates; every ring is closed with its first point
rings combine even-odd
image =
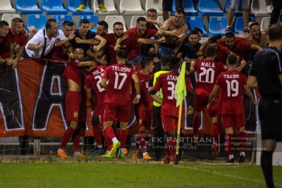
{"type": "Polygon", "coordinates": [[[119,11],[123,15],[145,15],[140,0],[121,0],[119,11]]]}

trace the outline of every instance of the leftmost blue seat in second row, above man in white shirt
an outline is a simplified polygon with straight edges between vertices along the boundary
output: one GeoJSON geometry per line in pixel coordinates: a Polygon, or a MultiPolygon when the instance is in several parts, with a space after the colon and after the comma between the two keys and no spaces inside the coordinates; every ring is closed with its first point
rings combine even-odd
{"type": "Polygon", "coordinates": [[[30,27],[35,26],[37,30],[42,30],[45,28],[47,23],[47,17],[44,14],[31,14],[27,17],[26,30],[30,32],[30,27]]]}

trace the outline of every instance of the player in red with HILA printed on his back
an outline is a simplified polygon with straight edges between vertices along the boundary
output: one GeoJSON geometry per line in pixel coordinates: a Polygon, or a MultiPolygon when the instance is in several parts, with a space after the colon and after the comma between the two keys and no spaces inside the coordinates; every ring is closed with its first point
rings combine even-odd
{"type": "Polygon", "coordinates": [[[94,108],[92,115],[92,130],[93,135],[96,140],[96,148],[90,154],[102,154],[104,149],[102,149],[102,130],[103,118],[104,118],[104,95],[105,89],[101,86],[102,76],[106,70],[106,65],[92,66],[90,72],[85,77],[85,87],[87,99],[91,99],[91,89],[94,90],[97,95],[97,104],[94,108]]]}

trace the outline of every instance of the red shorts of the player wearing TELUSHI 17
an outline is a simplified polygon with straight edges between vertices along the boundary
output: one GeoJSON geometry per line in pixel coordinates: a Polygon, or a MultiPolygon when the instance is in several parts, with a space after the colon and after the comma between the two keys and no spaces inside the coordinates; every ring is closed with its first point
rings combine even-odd
{"type": "Polygon", "coordinates": [[[114,121],[116,118],[121,122],[128,122],[130,118],[130,106],[107,103],[104,111],[104,122],[114,121]]]}

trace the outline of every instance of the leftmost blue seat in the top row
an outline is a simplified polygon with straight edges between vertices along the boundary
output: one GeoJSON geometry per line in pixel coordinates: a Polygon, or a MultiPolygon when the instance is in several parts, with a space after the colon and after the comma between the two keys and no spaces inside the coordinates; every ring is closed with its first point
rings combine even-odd
{"type": "Polygon", "coordinates": [[[16,11],[21,14],[42,14],[36,0],[16,0],[16,11]]]}

